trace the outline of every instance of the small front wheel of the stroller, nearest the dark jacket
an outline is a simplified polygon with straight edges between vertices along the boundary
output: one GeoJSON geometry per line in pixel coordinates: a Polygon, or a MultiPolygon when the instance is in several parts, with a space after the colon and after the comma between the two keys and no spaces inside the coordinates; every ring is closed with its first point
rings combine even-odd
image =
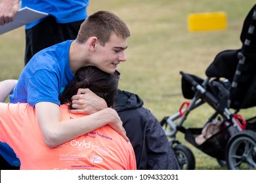
{"type": "Polygon", "coordinates": [[[192,151],[182,144],[177,144],[173,147],[176,158],[182,170],[194,170],[196,161],[192,151]]]}

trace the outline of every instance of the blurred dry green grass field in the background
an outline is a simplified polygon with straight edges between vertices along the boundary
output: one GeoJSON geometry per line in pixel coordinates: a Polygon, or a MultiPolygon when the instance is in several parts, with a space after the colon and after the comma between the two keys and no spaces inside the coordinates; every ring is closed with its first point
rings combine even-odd
{"type": "MultiPolygon", "coordinates": [[[[161,120],[177,112],[184,98],[179,71],[205,77],[205,69],[215,56],[226,49],[241,47],[240,31],[253,0],[93,0],[89,14],[110,10],[121,17],[131,30],[127,61],[119,65],[119,88],[140,95],[144,106],[161,120]],[[187,17],[195,12],[226,12],[228,27],[221,31],[190,32],[187,17]]],[[[0,80],[18,78],[24,67],[24,28],[0,36],[0,80]]],[[[202,127],[211,108],[195,112],[187,122],[202,127]]],[[[250,116],[254,109],[244,112],[250,116]]],[[[184,138],[181,135],[181,141],[184,138]]],[[[184,142],[186,143],[186,142],[184,142]]],[[[222,169],[190,144],[196,156],[196,169],[222,169]]]]}

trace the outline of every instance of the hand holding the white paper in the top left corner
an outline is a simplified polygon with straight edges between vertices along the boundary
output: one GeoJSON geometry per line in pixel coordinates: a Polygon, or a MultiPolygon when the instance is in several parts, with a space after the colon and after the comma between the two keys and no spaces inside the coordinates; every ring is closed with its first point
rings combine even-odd
{"type": "Polygon", "coordinates": [[[0,25],[5,25],[12,22],[16,12],[19,9],[20,0],[3,0],[0,3],[0,25]]]}

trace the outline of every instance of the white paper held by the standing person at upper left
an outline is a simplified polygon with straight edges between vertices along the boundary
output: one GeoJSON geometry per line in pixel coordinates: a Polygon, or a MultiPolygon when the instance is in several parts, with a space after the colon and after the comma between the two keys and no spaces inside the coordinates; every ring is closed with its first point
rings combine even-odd
{"type": "Polygon", "coordinates": [[[21,27],[22,25],[35,22],[36,20],[44,18],[45,16],[48,16],[48,13],[39,12],[28,7],[21,8],[16,13],[13,22],[5,25],[0,25],[0,35],[18,27],[21,27]]]}

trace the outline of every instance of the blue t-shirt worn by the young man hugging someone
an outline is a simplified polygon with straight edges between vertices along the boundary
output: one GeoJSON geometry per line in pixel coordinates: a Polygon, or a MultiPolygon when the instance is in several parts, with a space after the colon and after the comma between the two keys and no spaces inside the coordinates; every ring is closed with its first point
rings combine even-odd
{"type": "Polygon", "coordinates": [[[74,79],[70,69],[69,50],[72,41],[64,41],[37,52],[24,67],[10,95],[11,103],[41,101],[60,105],[58,97],[74,79]]]}

